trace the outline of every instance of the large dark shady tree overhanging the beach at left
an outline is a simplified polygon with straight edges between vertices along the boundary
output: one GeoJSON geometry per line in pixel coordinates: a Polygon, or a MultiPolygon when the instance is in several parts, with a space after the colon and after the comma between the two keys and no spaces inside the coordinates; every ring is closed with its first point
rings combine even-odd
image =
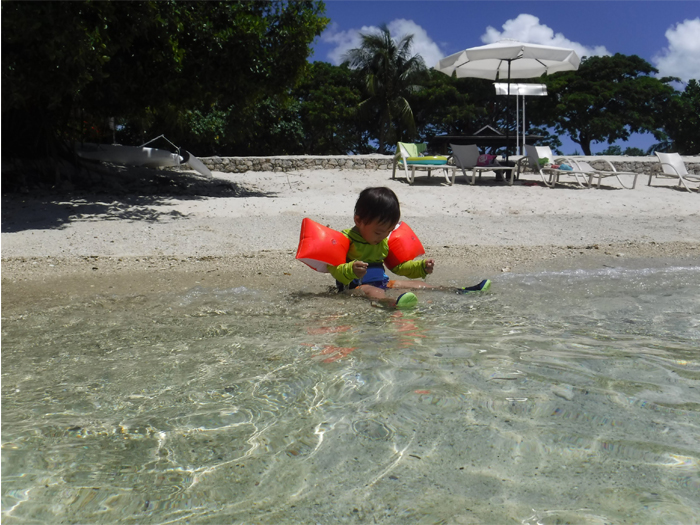
{"type": "Polygon", "coordinates": [[[222,115],[252,113],[294,85],[328,22],[323,9],[309,1],[3,2],[2,119],[14,131],[3,133],[3,154],[50,154],[86,128],[99,135],[108,117],[188,147],[201,138],[188,129],[197,115],[200,132],[220,128],[222,115]]]}

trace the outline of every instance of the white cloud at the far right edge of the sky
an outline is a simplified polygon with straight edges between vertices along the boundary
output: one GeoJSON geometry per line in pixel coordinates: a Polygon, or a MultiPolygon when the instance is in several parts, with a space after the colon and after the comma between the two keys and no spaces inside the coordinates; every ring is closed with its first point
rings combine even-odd
{"type": "Polygon", "coordinates": [[[666,31],[668,47],[652,58],[659,76],[700,79],[700,18],[684,20],[666,31]]]}

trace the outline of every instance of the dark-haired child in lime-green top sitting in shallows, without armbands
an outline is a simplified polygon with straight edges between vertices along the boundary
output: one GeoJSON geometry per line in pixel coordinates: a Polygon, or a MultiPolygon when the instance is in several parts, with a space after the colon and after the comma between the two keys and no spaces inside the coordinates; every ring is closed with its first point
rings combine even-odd
{"type": "MultiPolygon", "coordinates": [[[[401,294],[396,300],[386,296],[387,288],[417,289],[438,288],[423,282],[389,280],[384,272],[384,260],[389,254],[389,234],[401,218],[401,208],[396,194],[389,188],[365,188],[355,204],[355,227],[343,230],[350,240],[347,261],[338,266],[328,265],[340,291],[357,290],[369,299],[396,308],[411,308],[418,299],[411,292],[401,294]]],[[[397,275],[410,279],[425,278],[433,273],[433,259],[406,261],[390,268],[397,275]]],[[[471,288],[458,288],[460,293],[485,291],[491,282],[484,280],[471,288]]]]}

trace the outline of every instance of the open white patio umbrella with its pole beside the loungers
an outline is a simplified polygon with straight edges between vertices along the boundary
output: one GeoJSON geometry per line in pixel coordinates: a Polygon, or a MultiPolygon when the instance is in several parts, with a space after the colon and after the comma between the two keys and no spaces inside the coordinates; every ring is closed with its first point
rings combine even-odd
{"type": "MultiPolygon", "coordinates": [[[[458,78],[505,80],[510,85],[512,78],[533,78],[544,73],[575,71],[580,63],[581,59],[573,49],[501,40],[445,57],[438,62],[435,69],[450,76],[455,73],[458,78]]],[[[510,138],[509,110],[506,119],[506,137],[510,138]]]]}

